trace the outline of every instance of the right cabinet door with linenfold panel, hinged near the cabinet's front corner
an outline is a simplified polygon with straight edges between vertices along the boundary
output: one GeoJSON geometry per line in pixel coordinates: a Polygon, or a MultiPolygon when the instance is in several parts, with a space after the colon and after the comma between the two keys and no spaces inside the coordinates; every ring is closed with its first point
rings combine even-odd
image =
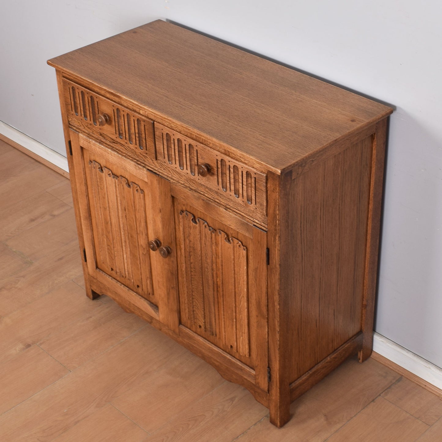
{"type": "Polygon", "coordinates": [[[267,233],[191,192],[172,195],[180,324],[267,389],[267,233]]]}

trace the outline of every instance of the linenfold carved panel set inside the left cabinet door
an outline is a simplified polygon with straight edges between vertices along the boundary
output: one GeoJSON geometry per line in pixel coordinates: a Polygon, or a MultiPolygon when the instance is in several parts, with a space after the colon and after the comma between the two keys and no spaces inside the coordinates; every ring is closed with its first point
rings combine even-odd
{"type": "Polygon", "coordinates": [[[145,191],[95,160],[86,173],[97,267],[156,304],[145,191]]]}

